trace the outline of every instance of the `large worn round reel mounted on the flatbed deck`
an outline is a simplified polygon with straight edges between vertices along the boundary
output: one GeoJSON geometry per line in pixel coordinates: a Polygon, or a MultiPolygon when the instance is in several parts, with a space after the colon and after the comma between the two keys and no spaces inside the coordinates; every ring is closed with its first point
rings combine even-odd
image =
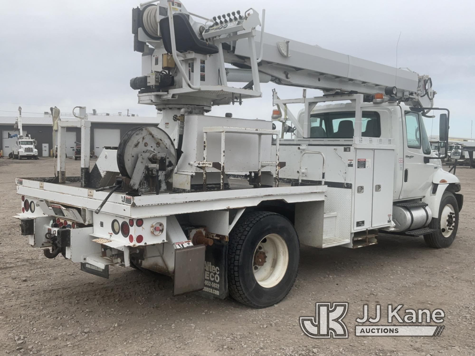
{"type": "Polygon", "coordinates": [[[130,178],[129,188],[139,194],[166,190],[177,163],[170,136],[157,126],[135,127],[123,135],[117,149],[117,166],[130,178]]]}

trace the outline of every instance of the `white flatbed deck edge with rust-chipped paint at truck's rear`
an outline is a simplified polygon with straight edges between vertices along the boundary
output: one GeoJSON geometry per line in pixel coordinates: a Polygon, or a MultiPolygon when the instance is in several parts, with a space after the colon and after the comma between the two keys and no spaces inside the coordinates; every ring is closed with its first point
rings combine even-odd
{"type": "MultiPolygon", "coordinates": [[[[67,177],[66,184],[51,183],[54,178],[17,178],[17,193],[67,206],[95,210],[107,197],[108,191],[95,191],[80,187],[79,177],[67,177]]],[[[102,208],[102,213],[145,218],[200,211],[222,210],[257,206],[266,200],[283,200],[287,203],[324,200],[325,185],[245,188],[244,179],[230,179],[226,190],[160,195],[130,196],[113,193],[102,208]],[[241,181],[241,182],[238,182],[241,181]],[[153,208],[152,208],[153,207],[153,208]]],[[[247,182],[246,182],[247,183],[247,182]]]]}

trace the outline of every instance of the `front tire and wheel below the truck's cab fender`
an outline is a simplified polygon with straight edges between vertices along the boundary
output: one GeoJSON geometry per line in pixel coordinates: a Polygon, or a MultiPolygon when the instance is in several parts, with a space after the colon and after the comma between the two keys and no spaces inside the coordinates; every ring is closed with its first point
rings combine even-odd
{"type": "Polygon", "coordinates": [[[445,192],[440,200],[439,215],[437,219],[432,218],[428,226],[436,231],[424,235],[424,241],[429,247],[445,248],[454,242],[458,229],[458,214],[455,196],[445,192]]]}

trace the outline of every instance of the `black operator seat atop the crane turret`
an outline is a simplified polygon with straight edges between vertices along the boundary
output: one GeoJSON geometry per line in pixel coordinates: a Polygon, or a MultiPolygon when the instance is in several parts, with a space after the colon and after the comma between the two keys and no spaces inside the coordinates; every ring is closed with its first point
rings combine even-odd
{"type": "MultiPolygon", "coordinates": [[[[218,47],[203,41],[196,36],[190,21],[182,12],[173,14],[173,27],[175,28],[175,42],[177,51],[180,53],[192,51],[201,55],[214,55],[218,53],[218,47]]],[[[168,16],[160,20],[160,34],[163,47],[171,53],[170,22],[168,16]]]]}

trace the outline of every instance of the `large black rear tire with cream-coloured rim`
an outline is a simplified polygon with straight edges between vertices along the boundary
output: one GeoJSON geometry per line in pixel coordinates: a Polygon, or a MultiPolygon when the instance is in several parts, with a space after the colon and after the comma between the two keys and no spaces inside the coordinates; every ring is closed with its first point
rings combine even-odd
{"type": "Polygon", "coordinates": [[[253,308],[280,302],[297,277],[299,250],[295,228],[285,216],[266,211],[243,215],[229,236],[229,294],[253,308]]]}

